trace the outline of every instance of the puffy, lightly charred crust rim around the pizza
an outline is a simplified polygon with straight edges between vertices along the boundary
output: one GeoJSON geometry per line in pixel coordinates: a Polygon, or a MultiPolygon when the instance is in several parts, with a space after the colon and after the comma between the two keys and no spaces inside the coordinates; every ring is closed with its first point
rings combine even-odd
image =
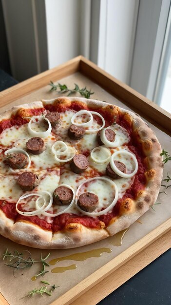
{"type": "Polygon", "coordinates": [[[122,229],[128,228],[149,210],[158,196],[163,172],[162,156],[160,156],[162,150],[155,134],[138,114],[98,100],[64,96],[13,107],[11,110],[0,114],[0,120],[10,118],[11,114],[16,114],[20,108],[42,108],[43,105],[54,102],[71,104],[72,101],[84,102],[94,109],[105,106],[114,115],[117,115],[119,111],[125,113],[127,121],[130,124],[133,123],[133,132],[139,135],[146,156],[145,161],[148,167],[145,173],[147,179],[146,188],[144,191],[139,191],[138,197],[133,203],[129,202],[122,207],[122,214],[113,218],[107,228],[101,229],[91,229],[78,223],[72,223],[67,225],[62,231],[53,234],[51,231],[41,229],[37,225],[27,221],[14,223],[0,210],[0,233],[17,243],[29,247],[59,249],[75,248],[91,244],[110,235],[114,235],[122,229]]]}

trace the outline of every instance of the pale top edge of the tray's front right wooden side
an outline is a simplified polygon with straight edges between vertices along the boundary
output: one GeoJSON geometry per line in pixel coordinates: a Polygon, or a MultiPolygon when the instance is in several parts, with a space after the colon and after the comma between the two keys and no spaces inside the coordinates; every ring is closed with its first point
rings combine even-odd
{"type": "MultiPolygon", "coordinates": [[[[122,265],[126,264],[130,259],[135,255],[141,252],[143,249],[147,248],[155,240],[161,237],[163,234],[167,233],[171,229],[171,218],[165,221],[163,224],[158,226],[156,229],[152,230],[149,234],[141,238],[139,241],[134,243],[130,248],[126,249],[109,263],[103,267],[96,270],[86,279],[78,283],[75,287],[67,291],[51,305],[69,305],[74,302],[78,297],[83,293],[86,293],[93,286],[100,283],[107,276],[113,273],[117,268],[120,268],[122,265]]],[[[171,247],[171,240],[168,240],[168,245],[171,247]]],[[[164,252],[164,251],[163,251],[164,252]]],[[[162,252],[162,253],[163,253],[162,252]]],[[[148,265],[148,264],[147,264],[148,265]]],[[[141,270],[141,268],[139,268],[141,270]]]]}

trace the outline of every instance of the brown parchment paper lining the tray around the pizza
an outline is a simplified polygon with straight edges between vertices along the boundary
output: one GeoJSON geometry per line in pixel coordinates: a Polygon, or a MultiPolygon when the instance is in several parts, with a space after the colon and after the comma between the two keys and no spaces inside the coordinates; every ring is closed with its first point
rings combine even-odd
{"type": "MultiPolygon", "coordinates": [[[[50,81],[50,79],[49,79],[50,81]]],[[[114,96],[110,95],[108,92],[100,88],[98,85],[96,85],[93,81],[88,79],[87,77],[81,75],[80,73],[76,73],[72,76],[67,76],[60,80],[60,82],[66,83],[69,87],[73,88],[74,83],[77,83],[80,87],[87,86],[88,89],[92,89],[93,92],[95,92],[94,95],[91,96],[91,98],[99,99],[102,101],[107,101],[109,103],[118,105],[120,107],[123,107],[125,109],[130,109],[127,107],[127,105],[121,103],[119,100],[114,98],[114,96]]],[[[49,92],[50,86],[46,86],[42,89],[39,89],[35,91],[34,93],[24,96],[15,102],[12,102],[7,107],[4,106],[0,109],[0,112],[3,112],[7,108],[11,108],[12,105],[19,105],[23,103],[28,103],[32,101],[37,101],[40,99],[51,99],[54,97],[59,96],[57,93],[49,92]]],[[[79,95],[78,95],[79,96],[79,95]]],[[[147,122],[147,121],[146,121],[147,122]]],[[[167,150],[171,153],[171,137],[167,135],[166,133],[163,133],[158,128],[150,124],[150,127],[152,130],[156,133],[161,146],[163,149],[167,150]]],[[[166,178],[167,172],[171,174],[171,161],[166,163],[164,167],[164,174],[163,177],[166,178]]],[[[170,183],[171,184],[171,183],[170,183]]],[[[163,191],[164,187],[161,187],[161,190],[163,191]]],[[[135,222],[130,229],[126,232],[122,246],[115,247],[113,246],[110,241],[113,237],[109,237],[105,240],[99,241],[97,243],[94,243],[92,245],[84,246],[81,248],[75,248],[75,249],[66,249],[66,250],[51,250],[50,259],[56,258],[56,257],[62,257],[67,256],[73,253],[77,252],[85,252],[89,251],[91,249],[95,248],[111,248],[111,253],[103,253],[101,257],[98,258],[89,258],[83,262],[76,262],[76,261],[61,261],[58,262],[56,266],[47,267],[47,270],[51,270],[54,267],[62,267],[62,266],[70,266],[73,264],[77,265],[77,268],[75,270],[67,270],[64,273],[51,273],[48,272],[45,274],[44,277],[39,277],[37,281],[33,282],[31,281],[31,277],[38,273],[40,270],[40,265],[35,264],[30,269],[25,270],[23,275],[20,275],[18,277],[13,276],[13,270],[12,268],[9,268],[4,265],[4,262],[2,259],[0,259],[0,292],[2,295],[6,298],[6,300],[9,302],[10,305],[20,305],[20,304],[37,304],[37,305],[48,305],[54,300],[57,299],[58,296],[61,296],[63,293],[65,293],[67,290],[75,286],[77,283],[79,283],[81,280],[89,276],[91,273],[93,273],[98,268],[102,267],[104,264],[109,262],[111,259],[113,259],[115,256],[120,254],[123,250],[129,248],[131,245],[133,245],[136,241],[144,237],[146,234],[148,234],[152,229],[155,229],[160,224],[162,224],[165,220],[169,219],[171,217],[171,188],[168,188],[166,191],[168,195],[162,193],[159,195],[157,202],[161,203],[160,205],[155,205],[154,210],[150,209],[148,212],[146,212],[141,218],[141,223],[135,222]],[[56,290],[53,292],[52,297],[48,295],[43,295],[41,297],[40,295],[34,296],[34,298],[24,298],[22,300],[19,300],[24,295],[28,293],[29,290],[34,289],[35,287],[40,287],[43,284],[40,283],[40,280],[48,281],[50,284],[55,284],[56,286],[60,286],[59,288],[56,288],[56,290]]],[[[34,259],[38,260],[40,257],[40,253],[42,253],[43,256],[47,255],[49,253],[48,250],[39,250],[34,248],[28,248],[25,246],[18,245],[16,243],[13,243],[12,241],[0,236],[0,257],[1,254],[4,252],[4,250],[8,248],[9,250],[13,251],[14,249],[17,249],[19,251],[23,251],[24,249],[30,250],[32,257],[34,259]]],[[[17,275],[17,274],[15,274],[17,275]]]]}

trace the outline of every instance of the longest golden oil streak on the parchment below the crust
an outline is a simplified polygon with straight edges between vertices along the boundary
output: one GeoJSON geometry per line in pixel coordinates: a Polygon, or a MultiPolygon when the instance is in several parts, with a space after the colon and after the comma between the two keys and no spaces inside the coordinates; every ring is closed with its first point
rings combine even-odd
{"type": "Polygon", "coordinates": [[[90,257],[100,257],[103,252],[111,253],[112,249],[109,248],[100,248],[94,249],[87,252],[79,252],[75,254],[71,254],[68,256],[57,257],[49,262],[50,265],[55,265],[57,262],[65,261],[65,260],[73,260],[73,261],[85,261],[90,257]]]}

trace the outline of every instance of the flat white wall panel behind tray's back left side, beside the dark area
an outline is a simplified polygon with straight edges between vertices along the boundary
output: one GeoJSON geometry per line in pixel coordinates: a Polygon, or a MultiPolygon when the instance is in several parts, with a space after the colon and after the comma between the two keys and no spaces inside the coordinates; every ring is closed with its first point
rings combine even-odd
{"type": "Polygon", "coordinates": [[[49,68],[79,55],[79,0],[45,0],[49,68]]]}

